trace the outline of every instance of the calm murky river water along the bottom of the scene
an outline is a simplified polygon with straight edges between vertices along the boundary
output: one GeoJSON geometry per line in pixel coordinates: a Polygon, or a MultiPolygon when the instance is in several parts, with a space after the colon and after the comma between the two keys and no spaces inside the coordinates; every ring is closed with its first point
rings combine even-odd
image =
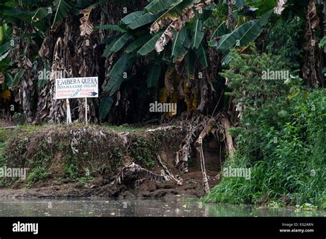
{"type": "Polygon", "coordinates": [[[186,198],[174,201],[0,198],[0,216],[326,216],[326,211],[206,204],[186,198]]]}

